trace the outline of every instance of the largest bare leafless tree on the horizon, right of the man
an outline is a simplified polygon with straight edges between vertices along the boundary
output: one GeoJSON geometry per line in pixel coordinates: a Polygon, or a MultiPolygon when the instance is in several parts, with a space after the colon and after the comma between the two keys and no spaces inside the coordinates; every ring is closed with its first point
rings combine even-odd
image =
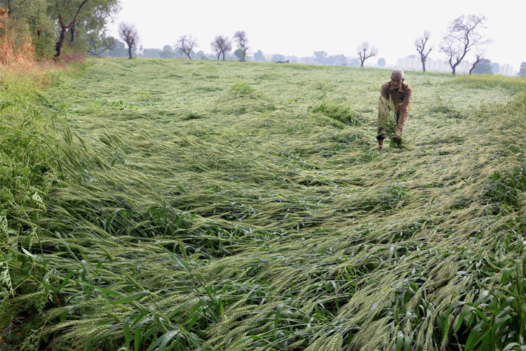
{"type": "Polygon", "coordinates": [[[486,19],[483,15],[461,15],[447,27],[447,33],[440,43],[440,51],[447,56],[453,75],[473,46],[492,43],[492,39],[485,39],[479,30],[486,28],[486,19]]]}

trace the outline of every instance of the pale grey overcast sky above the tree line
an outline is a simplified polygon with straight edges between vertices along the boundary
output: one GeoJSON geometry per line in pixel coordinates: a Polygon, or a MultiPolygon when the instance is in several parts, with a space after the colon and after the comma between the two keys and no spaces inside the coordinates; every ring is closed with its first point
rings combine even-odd
{"type": "Polygon", "coordinates": [[[487,17],[483,32],[494,40],[486,58],[513,70],[526,61],[526,0],[121,0],[121,6],[109,34],[118,37],[119,22],[135,23],[144,48],[173,46],[177,37],[191,34],[198,39],[196,51],[210,53],[215,34],[232,37],[244,30],[254,52],[298,57],[322,50],[356,56],[356,46],[367,40],[379,49],[370,62],[385,58],[387,65],[417,54],[413,41],[426,29],[435,46],[429,58],[444,58],[438,44],[447,25],[459,15],[480,13],[487,17]]]}

